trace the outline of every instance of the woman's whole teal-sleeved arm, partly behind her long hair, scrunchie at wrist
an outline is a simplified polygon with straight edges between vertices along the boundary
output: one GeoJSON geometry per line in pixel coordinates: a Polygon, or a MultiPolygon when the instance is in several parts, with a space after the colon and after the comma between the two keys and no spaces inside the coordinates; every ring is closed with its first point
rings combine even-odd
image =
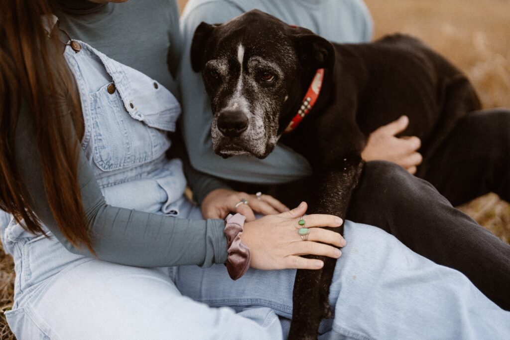
{"type": "MultiPolygon", "coordinates": [[[[21,109],[15,148],[23,182],[33,198],[31,207],[38,218],[70,252],[93,256],[86,247],[73,247],[53,217],[44,189],[34,128],[26,107],[21,109]]],[[[225,262],[223,220],[184,220],[108,205],[81,149],[78,174],[97,258],[136,266],[210,266],[225,262]]]]}

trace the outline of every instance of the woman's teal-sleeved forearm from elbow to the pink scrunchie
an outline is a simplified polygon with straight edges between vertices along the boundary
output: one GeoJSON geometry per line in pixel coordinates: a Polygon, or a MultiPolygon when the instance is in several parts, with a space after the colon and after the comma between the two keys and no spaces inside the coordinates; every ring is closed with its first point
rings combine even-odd
{"type": "MultiPolygon", "coordinates": [[[[225,262],[223,220],[186,220],[113,207],[106,204],[95,179],[83,182],[84,166],[89,167],[82,164],[80,171],[82,199],[99,259],[137,266],[225,262]]],[[[73,253],[90,255],[85,248],[76,249],[62,237],[59,240],[73,253]]]]}

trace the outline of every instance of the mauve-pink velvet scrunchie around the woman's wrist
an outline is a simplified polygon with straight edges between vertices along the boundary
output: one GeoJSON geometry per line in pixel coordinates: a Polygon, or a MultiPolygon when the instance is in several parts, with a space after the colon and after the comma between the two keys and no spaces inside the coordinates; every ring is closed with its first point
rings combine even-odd
{"type": "Polygon", "coordinates": [[[223,233],[227,240],[226,270],[232,280],[237,280],[246,273],[250,266],[250,250],[239,237],[243,233],[244,217],[241,214],[229,214],[225,218],[223,233]]]}

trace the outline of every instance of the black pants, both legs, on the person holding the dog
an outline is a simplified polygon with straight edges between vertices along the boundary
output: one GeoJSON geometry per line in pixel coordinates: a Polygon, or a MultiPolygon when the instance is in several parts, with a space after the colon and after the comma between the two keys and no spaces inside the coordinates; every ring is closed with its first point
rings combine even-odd
{"type": "Polygon", "coordinates": [[[510,201],[510,111],[469,114],[424,163],[427,181],[393,163],[368,162],[347,218],[464,273],[510,310],[510,246],[452,206],[488,192],[510,201]]]}

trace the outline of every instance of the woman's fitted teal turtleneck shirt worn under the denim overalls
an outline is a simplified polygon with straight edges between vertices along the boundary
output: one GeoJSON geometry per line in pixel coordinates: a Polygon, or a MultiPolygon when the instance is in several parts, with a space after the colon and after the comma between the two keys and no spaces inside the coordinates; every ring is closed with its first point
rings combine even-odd
{"type": "MultiPolygon", "coordinates": [[[[179,64],[181,40],[179,10],[174,1],[93,4],[85,0],[58,0],[58,3],[59,10],[55,14],[59,17],[60,27],[70,38],[86,41],[177,93],[171,73],[179,64]]],[[[62,93],[59,105],[62,112],[68,112],[65,93],[62,93]]],[[[31,207],[64,247],[73,253],[92,256],[85,247],[77,249],[70,244],[49,208],[31,117],[28,105],[22,103],[15,134],[16,158],[24,186],[33,198],[31,207]]],[[[210,266],[225,262],[226,238],[222,220],[184,220],[108,205],[83,152],[79,158],[78,175],[90,234],[93,235],[93,248],[99,259],[149,267],[210,266]]],[[[211,190],[225,187],[217,179],[196,171],[188,171],[186,175],[198,201],[211,190]]]]}

